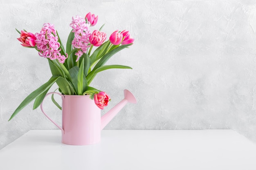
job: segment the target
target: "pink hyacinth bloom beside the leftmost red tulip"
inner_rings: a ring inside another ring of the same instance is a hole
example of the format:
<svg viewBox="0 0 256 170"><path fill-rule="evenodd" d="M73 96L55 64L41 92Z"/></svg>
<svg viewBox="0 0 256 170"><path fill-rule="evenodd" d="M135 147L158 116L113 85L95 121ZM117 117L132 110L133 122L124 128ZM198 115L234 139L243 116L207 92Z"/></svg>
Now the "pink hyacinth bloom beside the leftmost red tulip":
<svg viewBox="0 0 256 170"><path fill-rule="evenodd" d="M35 34L36 46L39 50L38 54L41 57L49 58L50 60L58 60L60 63L64 63L67 58L67 53L61 55L60 43L58 42L58 36L53 24L45 23L40 33Z"/></svg>

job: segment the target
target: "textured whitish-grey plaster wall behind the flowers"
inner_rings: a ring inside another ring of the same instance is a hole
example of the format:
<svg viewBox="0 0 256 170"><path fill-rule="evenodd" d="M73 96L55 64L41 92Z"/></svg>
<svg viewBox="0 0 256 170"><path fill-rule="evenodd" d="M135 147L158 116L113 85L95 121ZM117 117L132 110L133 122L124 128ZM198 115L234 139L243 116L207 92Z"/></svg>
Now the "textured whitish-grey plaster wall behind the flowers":
<svg viewBox="0 0 256 170"><path fill-rule="evenodd" d="M108 36L127 29L135 38L108 62L133 70L99 73L92 84L110 94L106 111L125 88L138 100L106 129L232 128L256 141L254 0L8 0L0 6L0 148L30 129L56 129L32 103L7 121L51 77L47 60L20 46L15 28L36 33L49 22L65 42L72 16L89 11L99 15L95 29L105 23ZM61 123L60 111L47 105Z"/></svg>

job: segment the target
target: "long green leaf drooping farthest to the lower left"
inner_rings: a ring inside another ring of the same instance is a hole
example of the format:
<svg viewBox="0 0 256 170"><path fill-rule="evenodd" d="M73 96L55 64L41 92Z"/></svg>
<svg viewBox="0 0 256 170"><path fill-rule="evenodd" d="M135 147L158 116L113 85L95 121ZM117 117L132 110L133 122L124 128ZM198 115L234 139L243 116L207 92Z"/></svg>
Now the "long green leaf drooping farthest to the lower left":
<svg viewBox="0 0 256 170"><path fill-rule="evenodd" d="M27 106L32 100L34 100L36 97L38 97L39 95L41 95L42 93L44 93L47 89L49 89L55 82L56 80L60 78L60 77L56 77L53 76L51 77L48 82L46 82L45 84L43 84L42 86L40 86L38 89L36 89L35 91L33 91L30 95L28 95L22 102L21 104L18 106L18 108L16 108L16 110L13 112L13 114L11 115L9 121L16 116L20 110L22 110L22 108L24 108L25 106Z"/></svg>

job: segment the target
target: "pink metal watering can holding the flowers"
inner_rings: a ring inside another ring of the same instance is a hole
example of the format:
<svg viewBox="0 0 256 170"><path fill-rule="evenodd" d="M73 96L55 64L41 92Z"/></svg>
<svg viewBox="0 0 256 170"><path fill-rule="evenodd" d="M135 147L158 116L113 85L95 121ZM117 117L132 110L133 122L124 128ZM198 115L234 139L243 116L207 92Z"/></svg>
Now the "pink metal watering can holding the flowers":
<svg viewBox="0 0 256 170"><path fill-rule="evenodd" d="M62 97L62 127L56 124L44 111L43 102L40 108L43 114L62 132L62 143L69 145L96 144L101 140L101 130L128 103L137 103L134 95L124 90L124 99L101 117L101 109L96 106L89 95L61 95Z"/></svg>

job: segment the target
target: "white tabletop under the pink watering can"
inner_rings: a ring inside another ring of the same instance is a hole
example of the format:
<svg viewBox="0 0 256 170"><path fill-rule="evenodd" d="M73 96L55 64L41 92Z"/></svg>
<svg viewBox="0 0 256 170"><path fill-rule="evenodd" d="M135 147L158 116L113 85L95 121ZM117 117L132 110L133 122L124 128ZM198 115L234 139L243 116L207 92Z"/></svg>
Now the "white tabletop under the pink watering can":
<svg viewBox="0 0 256 170"><path fill-rule="evenodd" d="M0 150L0 170L256 170L256 144L233 130L103 130L71 146L30 130Z"/></svg>

